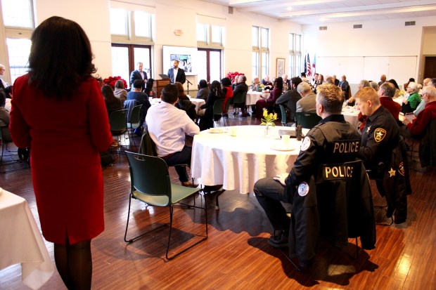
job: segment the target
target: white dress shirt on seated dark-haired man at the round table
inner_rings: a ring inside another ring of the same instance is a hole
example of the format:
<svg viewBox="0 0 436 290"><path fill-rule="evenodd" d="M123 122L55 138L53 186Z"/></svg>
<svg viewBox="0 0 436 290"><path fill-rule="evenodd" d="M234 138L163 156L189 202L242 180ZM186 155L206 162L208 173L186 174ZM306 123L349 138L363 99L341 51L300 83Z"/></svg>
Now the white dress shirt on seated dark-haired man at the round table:
<svg viewBox="0 0 436 290"><path fill-rule="evenodd" d="M185 134L194 136L200 133L200 128L184 110L164 101L148 109L146 124L159 157L180 152L185 145Z"/></svg>

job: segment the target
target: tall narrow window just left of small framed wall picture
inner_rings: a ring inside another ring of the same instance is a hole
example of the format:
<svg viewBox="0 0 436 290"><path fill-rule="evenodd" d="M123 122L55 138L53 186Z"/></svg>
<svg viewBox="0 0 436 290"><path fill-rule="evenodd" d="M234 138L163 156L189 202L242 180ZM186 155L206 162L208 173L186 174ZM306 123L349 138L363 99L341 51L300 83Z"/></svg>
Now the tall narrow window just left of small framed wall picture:
<svg viewBox="0 0 436 290"><path fill-rule="evenodd" d="M252 27L252 77L263 79L269 74L269 29Z"/></svg>

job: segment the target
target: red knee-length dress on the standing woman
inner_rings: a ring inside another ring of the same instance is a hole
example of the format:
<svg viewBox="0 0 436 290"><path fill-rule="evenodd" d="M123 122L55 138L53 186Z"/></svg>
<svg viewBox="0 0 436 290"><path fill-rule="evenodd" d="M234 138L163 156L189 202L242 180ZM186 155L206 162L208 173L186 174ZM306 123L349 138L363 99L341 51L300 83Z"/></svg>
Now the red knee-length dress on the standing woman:
<svg viewBox="0 0 436 290"><path fill-rule="evenodd" d="M71 100L46 98L28 77L14 83L9 128L15 145L32 150L42 233L56 244L96 237L104 229L99 152L112 143L103 95L89 78Z"/></svg>

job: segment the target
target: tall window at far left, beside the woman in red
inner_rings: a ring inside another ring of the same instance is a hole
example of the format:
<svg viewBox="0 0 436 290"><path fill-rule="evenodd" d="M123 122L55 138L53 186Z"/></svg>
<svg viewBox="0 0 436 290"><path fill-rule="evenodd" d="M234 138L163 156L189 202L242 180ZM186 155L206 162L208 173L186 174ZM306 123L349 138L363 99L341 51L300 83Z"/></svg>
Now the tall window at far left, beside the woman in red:
<svg viewBox="0 0 436 290"><path fill-rule="evenodd" d="M8 58L4 61L6 62L4 65L8 67L5 79L10 79L10 84L13 84L17 77L27 72L30 37L34 29L33 2L32 0L1 0L1 10L8 53ZM6 55L2 57L6 58Z"/></svg>

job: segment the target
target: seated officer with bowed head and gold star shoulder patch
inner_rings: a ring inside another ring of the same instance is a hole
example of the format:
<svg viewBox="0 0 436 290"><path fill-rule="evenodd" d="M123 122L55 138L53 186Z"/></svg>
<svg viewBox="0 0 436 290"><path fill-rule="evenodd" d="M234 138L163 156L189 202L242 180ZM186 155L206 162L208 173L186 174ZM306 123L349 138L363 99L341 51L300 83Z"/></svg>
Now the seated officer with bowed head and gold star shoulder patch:
<svg viewBox="0 0 436 290"><path fill-rule="evenodd" d="M371 177L380 176L392 150L399 142L397 121L380 104L378 94L373 88L361 88L355 98L361 114L368 116L361 135L359 158L364 161L365 168L371 170Z"/></svg>

